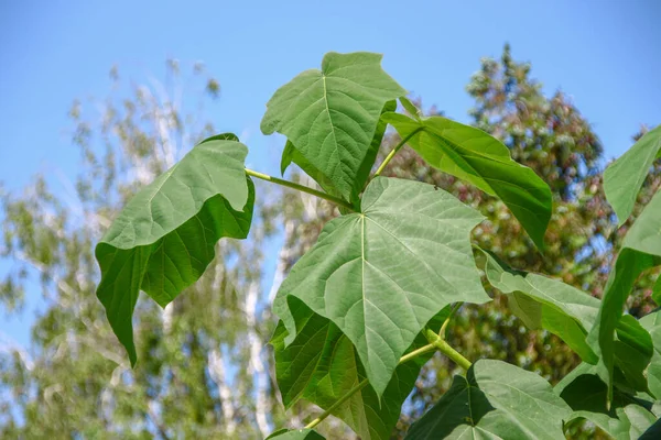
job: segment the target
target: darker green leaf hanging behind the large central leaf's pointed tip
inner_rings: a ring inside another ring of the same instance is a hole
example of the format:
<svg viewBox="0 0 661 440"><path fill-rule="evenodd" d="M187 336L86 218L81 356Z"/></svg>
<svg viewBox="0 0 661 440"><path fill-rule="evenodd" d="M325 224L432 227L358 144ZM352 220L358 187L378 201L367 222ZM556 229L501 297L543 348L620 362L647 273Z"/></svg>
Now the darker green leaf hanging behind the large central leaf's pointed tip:
<svg viewBox="0 0 661 440"><path fill-rule="evenodd" d="M296 308L296 339L285 348L286 330L281 321L271 340L282 402L290 408L300 398L305 398L328 409L366 378L365 370L354 344L337 326L314 314L300 300L291 298L290 301ZM440 328L448 314L449 308L444 308L430 326ZM419 334L408 351L426 344L426 338ZM430 352L400 364L381 399L367 385L342 406L335 407L332 414L344 420L364 440L390 439L401 406L411 393L422 365L432 354Z"/></svg>

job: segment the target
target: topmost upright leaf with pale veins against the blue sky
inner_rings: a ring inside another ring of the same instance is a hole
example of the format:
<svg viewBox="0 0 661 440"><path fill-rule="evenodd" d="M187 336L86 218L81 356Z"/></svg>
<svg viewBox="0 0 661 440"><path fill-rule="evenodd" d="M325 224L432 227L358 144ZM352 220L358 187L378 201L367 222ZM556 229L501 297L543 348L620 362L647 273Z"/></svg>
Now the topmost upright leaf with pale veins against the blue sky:
<svg viewBox="0 0 661 440"><path fill-rule="evenodd" d="M381 68L381 55L330 52L321 70L305 70L275 91L261 130L284 134L343 198L356 200L381 111L405 92Z"/></svg>

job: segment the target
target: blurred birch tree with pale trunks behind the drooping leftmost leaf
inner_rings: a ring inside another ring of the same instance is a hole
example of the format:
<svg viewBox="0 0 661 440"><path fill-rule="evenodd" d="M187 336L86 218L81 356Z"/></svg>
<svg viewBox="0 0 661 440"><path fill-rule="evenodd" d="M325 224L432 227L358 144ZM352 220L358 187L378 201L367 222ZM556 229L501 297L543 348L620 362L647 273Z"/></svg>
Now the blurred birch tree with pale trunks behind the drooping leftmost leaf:
<svg viewBox="0 0 661 440"><path fill-rule="evenodd" d="M40 176L0 200L0 251L12 263L1 299L20 309L39 279L45 301L31 348L0 346L0 438L262 438L282 416L261 311L261 251L277 211L259 205L250 239L223 240L203 279L165 309L139 300L131 370L95 295L94 246L137 188L215 133L201 114L220 89L203 65L182 75L175 61L163 84L124 87L117 69L111 79L108 99L71 110L76 182L56 191ZM185 81L197 89L184 94Z"/></svg>

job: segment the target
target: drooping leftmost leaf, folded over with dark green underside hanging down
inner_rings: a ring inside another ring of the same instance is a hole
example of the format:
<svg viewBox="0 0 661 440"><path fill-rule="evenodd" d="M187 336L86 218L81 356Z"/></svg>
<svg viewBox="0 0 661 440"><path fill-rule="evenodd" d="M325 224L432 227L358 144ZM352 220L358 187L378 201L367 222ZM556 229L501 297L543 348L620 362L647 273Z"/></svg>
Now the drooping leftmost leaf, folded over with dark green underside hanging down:
<svg viewBox="0 0 661 440"><path fill-rule="evenodd" d="M131 364L140 289L164 307L202 276L220 238L248 234L254 191L243 170L247 153L232 140L196 145L141 189L97 244L97 297Z"/></svg>

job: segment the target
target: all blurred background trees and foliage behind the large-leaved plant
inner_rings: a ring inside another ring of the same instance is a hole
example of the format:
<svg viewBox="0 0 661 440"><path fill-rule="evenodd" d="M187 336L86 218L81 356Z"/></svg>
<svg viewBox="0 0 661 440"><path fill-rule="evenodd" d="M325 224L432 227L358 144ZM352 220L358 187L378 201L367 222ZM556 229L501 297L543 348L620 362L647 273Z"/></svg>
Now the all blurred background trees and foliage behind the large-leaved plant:
<svg viewBox="0 0 661 440"><path fill-rule="evenodd" d="M272 299L271 284L278 286L314 244L322 226L337 215L327 202L290 191L260 198L274 202L257 206L249 240L221 241L217 261L193 292L164 310L139 301L137 370L129 367L94 295L98 268L91 250L109 219L138 187L214 133L203 111L188 111L175 97L182 78L196 80L197 89L186 94L201 102L218 95L218 82L202 66L182 76L171 64L170 72L178 78L171 88L133 87L130 95L118 91L100 102L74 105L74 143L84 167L68 194L52 193L44 177L22 194L2 194L1 251L14 263L2 279L2 301L9 311L20 308L22 293L36 282L47 301L33 328L33 353L3 348L2 437L234 438L240 432L259 438L273 426L301 426L317 411L296 404L283 414L271 356L262 349L274 328L264 307ZM121 90L118 74L112 76ZM544 257L501 201L431 168L412 150L402 150L383 175L448 190L488 218L474 230L477 244L514 267L556 276L600 296L611 264L608 250L621 241L631 220L614 233L616 220L600 182L603 146L589 122L565 94L544 96L531 66L514 62L507 46L501 59L481 61L467 91L475 101L473 124L502 140L513 158L533 168L556 197ZM397 134L384 140L389 145L398 141ZM295 179L313 184L293 173ZM639 201L649 201L658 186L655 168ZM633 218L639 212L640 204ZM264 282L262 252L278 226L284 246L274 279ZM632 315L651 310L654 279L655 274L640 279L629 304ZM552 383L578 364L556 337L525 329L506 310L507 299L489 293L495 301L462 307L448 330L448 342L462 346L466 358L503 360ZM398 436L448 389L454 370L441 355L425 365L404 405ZM328 438L349 436L339 422L325 424L319 431ZM590 428L583 433L589 435Z"/></svg>

